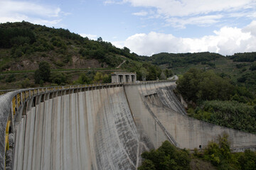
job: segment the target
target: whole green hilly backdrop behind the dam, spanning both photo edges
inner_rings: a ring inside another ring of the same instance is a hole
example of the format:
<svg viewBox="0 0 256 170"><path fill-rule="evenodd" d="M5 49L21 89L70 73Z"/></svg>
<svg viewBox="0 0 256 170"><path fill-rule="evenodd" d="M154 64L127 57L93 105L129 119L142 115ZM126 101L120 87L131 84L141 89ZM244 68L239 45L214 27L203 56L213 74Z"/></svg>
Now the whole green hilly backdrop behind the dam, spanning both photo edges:
<svg viewBox="0 0 256 170"><path fill-rule="evenodd" d="M114 47L102 38L82 38L63 28L48 28L25 21L0 24L0 89L38 86L34 72L42 61L48 62L55 74L50 82L41 86L78 83L82 74L90 78L87 82L92 82L96 72L107 75L116 71L137 72L138 80L166 79L191 68L213 69L235 83L255 86L255 74L252 73L255 60L256 52L226 57L211 52L162 52L145 57L131 53L127 47ZM55 81L54 77L63 77L65 81Z"/></svg>

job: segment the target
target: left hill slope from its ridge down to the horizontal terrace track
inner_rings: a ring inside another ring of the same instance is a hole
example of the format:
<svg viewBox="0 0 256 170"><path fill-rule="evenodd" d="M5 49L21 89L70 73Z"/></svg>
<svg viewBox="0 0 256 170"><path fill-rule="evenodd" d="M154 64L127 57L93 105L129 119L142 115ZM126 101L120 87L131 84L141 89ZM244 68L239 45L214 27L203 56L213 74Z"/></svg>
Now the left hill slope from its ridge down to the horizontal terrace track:
<svg viewBox="0 0 256 170"><path fill-rule="evenodd" d="M122 56L135 59L129 49L110 42L82 38L69 30L27 22L0 25L1 71L37 69L47 61L52 69L117 67Z"/></svg>

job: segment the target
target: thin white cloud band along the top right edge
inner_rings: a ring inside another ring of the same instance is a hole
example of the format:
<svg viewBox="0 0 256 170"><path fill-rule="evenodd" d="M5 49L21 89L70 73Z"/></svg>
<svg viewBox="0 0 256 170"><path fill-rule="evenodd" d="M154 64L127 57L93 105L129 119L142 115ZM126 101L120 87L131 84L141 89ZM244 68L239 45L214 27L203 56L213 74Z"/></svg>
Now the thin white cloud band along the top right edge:
<svg viewBox="0 0 256 170"><path fill-rule="evenodd" d="M157 8L166 16L189 16L215 11L236 11L252 8L255 0L123 0L133 6Z"/></svg>

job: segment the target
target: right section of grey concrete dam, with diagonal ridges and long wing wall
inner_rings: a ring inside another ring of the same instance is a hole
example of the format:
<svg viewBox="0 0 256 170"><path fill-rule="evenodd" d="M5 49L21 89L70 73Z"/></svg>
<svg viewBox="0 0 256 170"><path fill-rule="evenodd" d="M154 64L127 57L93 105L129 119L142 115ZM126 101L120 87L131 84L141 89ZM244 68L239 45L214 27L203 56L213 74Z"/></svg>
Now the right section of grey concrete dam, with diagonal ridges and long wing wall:
<svg viewBox="0 0 256 170"><path fill-rule="evenodd" d="M206 147L209 141L217 142L218 136L226 133L234 152L256 148L255 134L188 117L173 92L175 82L139 84L124 88L129 91L127 98L139 133L144 132L154 147L159 147L164 140L169 140L180 148L194 149L200 145ZM140 100L135 101L135 98Z"/></svg>

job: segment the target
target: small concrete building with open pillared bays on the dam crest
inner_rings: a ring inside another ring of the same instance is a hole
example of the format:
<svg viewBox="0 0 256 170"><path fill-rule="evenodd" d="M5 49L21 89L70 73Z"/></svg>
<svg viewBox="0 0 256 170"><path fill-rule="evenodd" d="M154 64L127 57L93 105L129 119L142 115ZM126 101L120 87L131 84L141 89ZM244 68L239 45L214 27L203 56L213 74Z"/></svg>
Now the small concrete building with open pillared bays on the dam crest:
<svg viewBox="0 0 256 170"><path fill-rule="evenodd" d="M112 83L135 83L137 76L132 72L114 72L111 74L111 79Z"/></svg>

